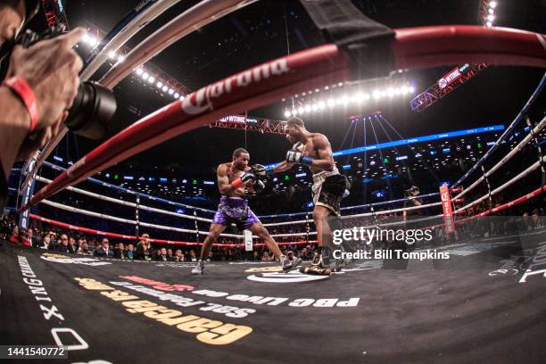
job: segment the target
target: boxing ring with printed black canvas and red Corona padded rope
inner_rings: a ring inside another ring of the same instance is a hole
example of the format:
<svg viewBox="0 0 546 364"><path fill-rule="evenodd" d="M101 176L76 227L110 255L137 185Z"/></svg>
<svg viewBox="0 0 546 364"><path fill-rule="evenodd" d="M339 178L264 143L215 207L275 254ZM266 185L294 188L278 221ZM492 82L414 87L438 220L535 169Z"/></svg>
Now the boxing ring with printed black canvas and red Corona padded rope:
<svg viewBox="0 0 546 364"><path fill-rule="evenodd" d="M393 70L457 62L546 68L546 42L541 34L473 26L396 29L395 33L391 44ZM135 59L142 61L136 55ZM91 176L226 114L349 80L350 64L336 45L320 45L203 87L138 120L68 170L45 162L45 168L60 174L53 180L37 176L37 182L44 186L21 211L41 203L71 214L145 227L146 232L191 235L194 241L150 240L197 247L206 236L205 227L215 211L149 194L138 193L134 202L122 200L116 194L136 196L136 192ZM119 82L128 71L114 69L116 76L105 79ZM490 170L482 170L482 176L469 185L463 183L492 157L523 120L545 79L546 75L495 146L453 186L466 187L451 188L452 200L465 203L455 208L454 223L467 235L452 243L416 246L417 253L434 249L449 254L450 259L393 261L376 257L354 261L332 277L297 271L280 273L275 262L213 261L206 275L194 277L189 274L194 263L97 259L5 243L0 247L0 262L7 272L0 278L2 342L63 344L70 348L70 362L95 364L127 362L129 358L158 363L181 358L185 362L263 363L542 362L546 355L546 224L539 221L534 229L509 227L505 234L482 236L473 232L479 225L469 224L479 224L493 213L508 211L546 191L543 184L529 186L529 192L511 201L472 212L477 205L491 202L492 196L521 184L536 170L543 170L546 157L538 149L537 160L524 166L521 173L501 186L492 186L495 172L537 144L546 118L532 125L529 134ZM101 185L113 194L75 187L84 181ZM487 193L474 198L471 193L476 194L478 186L485 186ZM135 211L135 215L145 211L170 216L194 227L127 219L51 200L64 190L103 204L123 206L131 213ZM402 211L420 209L439 211L443 204L439 193L421 197L430 201L390 210L380 208L408 199L346 206L342 208L343 223L396 227L404 222L382 217L400 217ZM472 200L467 202L470 197ZM161 204L185 208L193 214L170 211L168 207L159 207ZM30 214L30 218L91 235L136 239L134 235L76 226L37 214ZM269 228L304 226L299 233L272 234L277 239L288 239L279 245L312 244L316 240L309 211L260 218ZM445 218L444 213L439 213L419 223L421 227L434 228L435 236L447 236L443 231ZM243 238L239 234L222 236L234 241ZM253 245L263 244L254 236Z"/></svg>

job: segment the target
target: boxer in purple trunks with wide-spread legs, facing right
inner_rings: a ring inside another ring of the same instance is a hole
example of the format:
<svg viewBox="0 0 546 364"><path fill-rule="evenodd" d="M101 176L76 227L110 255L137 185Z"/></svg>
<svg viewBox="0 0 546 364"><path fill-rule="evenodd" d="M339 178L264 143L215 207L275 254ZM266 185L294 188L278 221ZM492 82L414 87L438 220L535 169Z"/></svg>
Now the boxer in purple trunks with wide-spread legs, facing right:
<svg viewBox="0 0 546 364"><path fill-rule="evenodd" d="M260 219L252 212L246 200L246 194L260 192L263 183L256 179L248 166L250 156L243 148L237 148L233 153L233 160L222 163L216 170L219 193L222 195L218 205L218 211L212 220L209 236L203 242L201 258L192 269L192 274L203 274L204 261L207 259L211 246L218 240L219 235L231 223L235 223L239 229L247 228L252 235L258 236L277 258L283 270L293 267L284 254L281 253L277 243L269 235L268 230L261 225Z"/></svg>

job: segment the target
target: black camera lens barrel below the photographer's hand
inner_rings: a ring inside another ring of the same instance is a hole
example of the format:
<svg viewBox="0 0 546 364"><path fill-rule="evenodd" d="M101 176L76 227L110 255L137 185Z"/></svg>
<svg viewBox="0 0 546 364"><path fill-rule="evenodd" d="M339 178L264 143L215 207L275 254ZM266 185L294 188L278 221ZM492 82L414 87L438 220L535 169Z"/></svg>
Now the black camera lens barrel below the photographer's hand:
<svg viewBox="0 0 546 364"><path fill-rule="evenodd" d="M95 82L82 82L64 124L79 136L103 139L116 112L112 91Z"/></svg>

